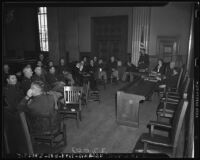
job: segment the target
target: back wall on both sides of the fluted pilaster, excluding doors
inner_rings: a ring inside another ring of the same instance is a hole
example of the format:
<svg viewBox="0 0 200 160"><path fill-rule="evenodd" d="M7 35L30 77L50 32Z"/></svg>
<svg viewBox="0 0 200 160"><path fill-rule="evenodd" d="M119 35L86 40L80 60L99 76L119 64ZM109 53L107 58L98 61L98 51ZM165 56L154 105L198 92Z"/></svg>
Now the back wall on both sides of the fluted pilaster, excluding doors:
<svg viewBox="0 0 200 160"><path fill-rule="evenodd" d="M99 16L128 15L127 51L131 53L132 7L50 7L48 14L48 23L52 24L49 26L50 43L55 44L50 47L50 54L58 52L56 59L69 52L70 61L78 60L80 52L91 52L90 20ZM167 35L179 36L180 54L187 55L190 14L188 3L170 2L164 7L151 7L149 54L156 55L157 36Z"/></svg>

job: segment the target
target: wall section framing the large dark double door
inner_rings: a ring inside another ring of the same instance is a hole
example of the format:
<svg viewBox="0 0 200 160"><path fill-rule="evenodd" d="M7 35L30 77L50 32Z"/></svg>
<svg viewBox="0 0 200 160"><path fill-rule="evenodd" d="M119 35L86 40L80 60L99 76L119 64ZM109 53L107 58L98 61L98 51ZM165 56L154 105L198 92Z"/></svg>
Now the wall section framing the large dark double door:
<svg viewBox="0 0 200 160"><path fill-rule="evenodd" d="M80 7L79 8L79 44L80 51L91 51L91 17L128 15L128 46L131 53L131 7Z"/></svg>

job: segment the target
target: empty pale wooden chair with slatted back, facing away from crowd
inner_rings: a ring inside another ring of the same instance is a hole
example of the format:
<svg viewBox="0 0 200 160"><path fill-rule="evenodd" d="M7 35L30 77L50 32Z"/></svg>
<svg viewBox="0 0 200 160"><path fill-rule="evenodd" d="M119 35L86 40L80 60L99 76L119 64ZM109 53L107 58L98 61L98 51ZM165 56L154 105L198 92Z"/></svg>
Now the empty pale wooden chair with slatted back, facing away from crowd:
<svg viewBox="0 0 200 160"><path fill-rule="evenodd" d="M62 115L63 119L76 119L77 127L79 127L79 121L81 121L82 92L82 87L64 86L64 104L60 103L59 107L59 113Z"/></svg>

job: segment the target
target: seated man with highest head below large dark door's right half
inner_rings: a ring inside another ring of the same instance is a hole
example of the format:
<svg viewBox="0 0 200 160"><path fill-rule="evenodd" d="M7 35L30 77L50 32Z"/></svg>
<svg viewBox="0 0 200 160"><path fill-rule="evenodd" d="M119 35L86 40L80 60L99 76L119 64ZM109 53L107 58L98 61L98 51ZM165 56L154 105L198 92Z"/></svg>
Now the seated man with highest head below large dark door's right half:
<svg viewBox="0 0 200 160"><path fill-rule="evenodd" d="M116 78L117 81L119 80L119 72L117 70L117 61L115 61L115 57L110 57L109 69L111 72L111 79Z"/></svg>

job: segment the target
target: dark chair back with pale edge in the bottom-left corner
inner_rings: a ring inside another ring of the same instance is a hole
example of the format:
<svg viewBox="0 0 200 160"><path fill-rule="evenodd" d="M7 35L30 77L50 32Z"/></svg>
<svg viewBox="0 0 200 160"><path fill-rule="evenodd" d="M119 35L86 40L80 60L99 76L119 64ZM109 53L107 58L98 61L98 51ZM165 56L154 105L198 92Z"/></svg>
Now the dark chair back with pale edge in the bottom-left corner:
<svg viewBox="0 0 200 160"><path fill-rule="evenodd" d="M24 112L4 109L4 143L7 154L33 154L33 145Z"/></svg>

